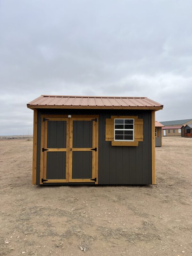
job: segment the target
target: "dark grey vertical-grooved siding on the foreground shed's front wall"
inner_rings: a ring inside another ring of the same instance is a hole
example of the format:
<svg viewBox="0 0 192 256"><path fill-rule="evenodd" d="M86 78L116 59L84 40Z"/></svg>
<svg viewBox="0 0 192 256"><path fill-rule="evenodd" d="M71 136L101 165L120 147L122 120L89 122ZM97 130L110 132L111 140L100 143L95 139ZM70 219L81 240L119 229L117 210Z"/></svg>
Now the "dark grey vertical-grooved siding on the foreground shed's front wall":
<svg viewBox="0 0 192 256"><path fill-rule="evenodd" d="M144 185L152 184L151 111L113 109L38 109L37 122L37 175L40 180L41 115L99 115L98 184ZM139 146L111 146L105 140L105 119L111 116L138 116L143 119L143 141ZM44 183L51 185L52 183ZM94 183L58 183L89 184Z"/></svg>

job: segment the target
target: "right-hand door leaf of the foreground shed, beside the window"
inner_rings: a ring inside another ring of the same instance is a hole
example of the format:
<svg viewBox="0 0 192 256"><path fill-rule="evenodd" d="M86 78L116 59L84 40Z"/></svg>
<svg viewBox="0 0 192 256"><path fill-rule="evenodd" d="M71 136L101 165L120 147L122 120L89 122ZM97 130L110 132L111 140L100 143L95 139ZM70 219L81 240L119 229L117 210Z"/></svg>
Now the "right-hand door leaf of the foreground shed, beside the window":
<svg viewBox="0 0 192 256"><path fill-rule="evenodd" d="M93 117L70 118L69 182L97 181L96 122Z"/></svg>

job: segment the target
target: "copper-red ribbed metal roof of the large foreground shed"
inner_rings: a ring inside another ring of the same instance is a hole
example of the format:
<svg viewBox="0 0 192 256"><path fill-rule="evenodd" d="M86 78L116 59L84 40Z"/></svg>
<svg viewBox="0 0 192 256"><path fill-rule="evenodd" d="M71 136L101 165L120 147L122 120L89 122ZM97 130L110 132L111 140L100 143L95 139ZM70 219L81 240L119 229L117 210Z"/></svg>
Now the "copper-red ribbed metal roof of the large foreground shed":
<svg viewBox="0 0 192 256"><path fill-rule="evenodd" d="M40 107L86 107L86 108L154 108L162 109L163 105L147 97L108 97L108 96L66 96L41 95L27 104L28 108Z"/></svg>

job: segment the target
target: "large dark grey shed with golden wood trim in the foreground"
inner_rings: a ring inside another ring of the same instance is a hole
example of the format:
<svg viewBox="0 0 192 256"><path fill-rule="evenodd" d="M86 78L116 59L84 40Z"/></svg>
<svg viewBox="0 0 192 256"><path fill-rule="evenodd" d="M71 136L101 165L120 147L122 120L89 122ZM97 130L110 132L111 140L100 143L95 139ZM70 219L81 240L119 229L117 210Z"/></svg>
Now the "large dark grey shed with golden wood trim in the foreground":
<svg viewBox="0 0 192 256"><path fill-rule="evenodd" d="M33 184L155 184L155 111L146 97L42 95L34 110Z"/></svg>

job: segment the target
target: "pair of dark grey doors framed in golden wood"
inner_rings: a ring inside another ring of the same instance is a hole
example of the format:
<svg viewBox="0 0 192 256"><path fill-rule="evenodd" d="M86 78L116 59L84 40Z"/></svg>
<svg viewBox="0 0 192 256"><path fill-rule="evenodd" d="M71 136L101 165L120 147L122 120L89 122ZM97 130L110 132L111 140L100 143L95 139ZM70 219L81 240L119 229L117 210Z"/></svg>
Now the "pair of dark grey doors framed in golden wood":
<svg viewBox="0 0 192 256"><path fill-rule="evenodd" d="M98 116L41 118L40 184L98 184Z"/></svg>

